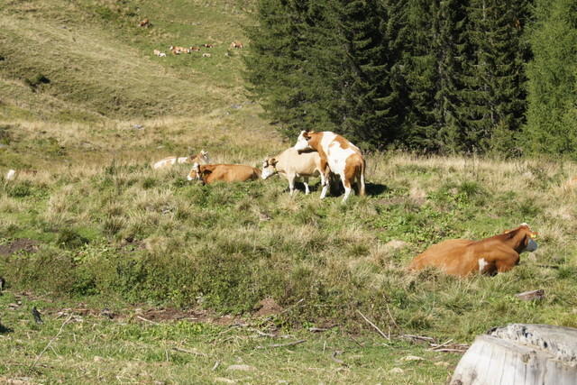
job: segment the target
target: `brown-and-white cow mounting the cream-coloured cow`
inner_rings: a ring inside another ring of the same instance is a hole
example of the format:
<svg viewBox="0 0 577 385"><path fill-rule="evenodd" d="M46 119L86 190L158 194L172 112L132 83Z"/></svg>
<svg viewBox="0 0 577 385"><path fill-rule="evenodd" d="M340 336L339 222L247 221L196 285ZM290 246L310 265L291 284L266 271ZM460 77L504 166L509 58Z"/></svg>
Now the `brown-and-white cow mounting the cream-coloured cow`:
<svg viewBox="0 0 577 385"><path fill-rule="evenodd" d="M355 187L355 192L361 196L364 191L364 170L366 163L362 157L361 150L352 142L347 141L343 136L330 131L316 133L314 131L303 131L298 135L297 143L294 146L297 151L313 150L317 151L321 157L325 181L321 199L326 196L328 190L328 172L341 177L344 187L343 202L351 194L351 189ZM328 169L327 166L328 165Z"/></svg>

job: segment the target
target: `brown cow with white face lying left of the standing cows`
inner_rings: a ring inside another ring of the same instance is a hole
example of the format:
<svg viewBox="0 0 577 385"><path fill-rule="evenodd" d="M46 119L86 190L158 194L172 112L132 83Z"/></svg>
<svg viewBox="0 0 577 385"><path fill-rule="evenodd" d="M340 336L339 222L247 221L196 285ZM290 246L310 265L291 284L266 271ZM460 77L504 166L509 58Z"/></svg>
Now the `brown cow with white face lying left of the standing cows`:
<svg viewBox="0 0 577 385"><path fill-rule="evenodd" d="M205 164L195 163L188 173L188 180L201 180L209 185L216 181L244 182L261 178L261 170L243 164Z"/></svg>

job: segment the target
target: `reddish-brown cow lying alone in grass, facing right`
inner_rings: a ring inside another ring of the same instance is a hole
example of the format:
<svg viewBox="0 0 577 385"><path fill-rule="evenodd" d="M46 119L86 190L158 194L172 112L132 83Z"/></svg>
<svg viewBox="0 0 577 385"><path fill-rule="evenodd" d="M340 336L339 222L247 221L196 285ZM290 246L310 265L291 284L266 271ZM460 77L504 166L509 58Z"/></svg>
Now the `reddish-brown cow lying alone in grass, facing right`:
<svg viewBox="0 0 577 385"><path fill-rule="evenodd" d="M435 266L446 274L465 277L479 271L480 274L495 275L513 269L519 262L521 252L535 252L536 233L527 224L503 234L470 241L450 239L434 244L417 255L409 269L421 270Z"/></svg>

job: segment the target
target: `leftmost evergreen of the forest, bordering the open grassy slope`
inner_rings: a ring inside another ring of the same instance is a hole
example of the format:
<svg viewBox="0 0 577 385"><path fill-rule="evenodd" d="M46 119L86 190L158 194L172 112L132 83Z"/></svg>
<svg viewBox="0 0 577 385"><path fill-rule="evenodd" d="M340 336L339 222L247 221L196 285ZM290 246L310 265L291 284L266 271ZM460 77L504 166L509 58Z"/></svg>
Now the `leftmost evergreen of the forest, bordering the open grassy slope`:
<svg viewBox="0 0 577 385"><path fill-rule="evenodd" d="M284 133L312 129L307 116L306 65L310 57L311 25L317 23L307 1L261 0L258 25L246 28L251 54L245 58L245 78L252 96L259 100L265 116Z"/></svg>

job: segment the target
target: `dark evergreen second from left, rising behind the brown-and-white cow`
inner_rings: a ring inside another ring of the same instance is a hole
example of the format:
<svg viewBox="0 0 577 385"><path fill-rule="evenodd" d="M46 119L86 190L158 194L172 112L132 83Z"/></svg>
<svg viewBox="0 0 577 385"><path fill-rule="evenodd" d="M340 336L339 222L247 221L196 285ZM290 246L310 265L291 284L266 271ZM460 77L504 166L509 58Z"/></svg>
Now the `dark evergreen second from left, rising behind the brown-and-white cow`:
<svg viewBox="0 0 577 385"><path fill-rule="evenodd" d="M332 23L325 32L335 44L325 56L323 78L335 93L326 110L339 132L365 147L384 147L398 134L402 3L386 3L389 12L376 0L334 0L330 7Z"/></svg>

